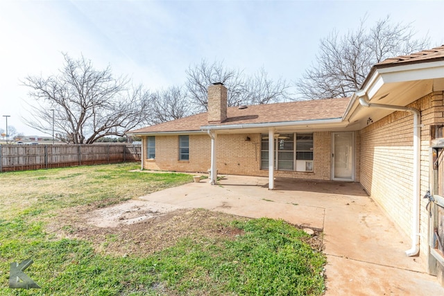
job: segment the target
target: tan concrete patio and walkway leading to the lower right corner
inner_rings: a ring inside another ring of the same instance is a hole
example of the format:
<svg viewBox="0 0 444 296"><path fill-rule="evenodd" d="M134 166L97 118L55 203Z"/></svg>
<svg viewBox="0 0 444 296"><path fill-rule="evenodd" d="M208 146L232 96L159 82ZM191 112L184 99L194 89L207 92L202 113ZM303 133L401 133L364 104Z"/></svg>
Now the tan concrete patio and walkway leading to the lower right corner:
<svg viewBox="0 0 444 296"><path fill-rule="evenodd" d="M205 208L251 218L282 218L324 230L325 295L444 295L421 257L408 257L398 231L357 183L226 176L146 195L141 200Z"/></svg>

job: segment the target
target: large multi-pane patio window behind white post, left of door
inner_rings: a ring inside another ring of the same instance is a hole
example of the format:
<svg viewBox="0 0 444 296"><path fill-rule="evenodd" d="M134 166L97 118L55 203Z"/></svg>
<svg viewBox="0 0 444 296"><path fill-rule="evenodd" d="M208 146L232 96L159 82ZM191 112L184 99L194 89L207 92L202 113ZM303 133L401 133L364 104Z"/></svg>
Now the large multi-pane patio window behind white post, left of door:
<svg viewBox="0 0 444 296"><path fill-rule="evenodd" d="M313 171L313 134L279 134L275 136L275 169L279 171ZM261 168L268 168L268 134L261 137ZM301 167L303 166L303 168Z"/></svg>

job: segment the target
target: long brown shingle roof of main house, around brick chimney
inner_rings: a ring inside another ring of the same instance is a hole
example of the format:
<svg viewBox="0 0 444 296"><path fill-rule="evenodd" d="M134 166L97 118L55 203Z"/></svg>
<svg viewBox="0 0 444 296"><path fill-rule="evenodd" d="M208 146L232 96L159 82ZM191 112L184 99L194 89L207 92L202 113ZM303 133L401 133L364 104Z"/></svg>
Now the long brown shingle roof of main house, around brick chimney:
<svg viewBox="0 0 444 296"><path fill-rule="evenodd" d="M307 121L337 119L343 116L350 98L330 98L315 101L297 101L267 105L250 105L246 109L229 107L228 118L217 125L248 125L254 123L278 123L284 121ZM166 123L147 126L131 133L198 131L208 124L207 112L188 116Z"/></svg>

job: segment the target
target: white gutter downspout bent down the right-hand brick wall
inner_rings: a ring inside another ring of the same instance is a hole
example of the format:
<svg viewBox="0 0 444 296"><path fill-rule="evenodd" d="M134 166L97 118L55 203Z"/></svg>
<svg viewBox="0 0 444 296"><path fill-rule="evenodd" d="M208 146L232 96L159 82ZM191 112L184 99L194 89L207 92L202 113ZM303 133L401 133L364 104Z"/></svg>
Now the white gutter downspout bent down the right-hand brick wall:
<svg viewBox="0 0 444 296"><path fill-rule="evenodd" d="M421 112L413 107L402 107L395 105L383 105L370 103L368 96L364 91L356 93L359 97L359 103L364 107L375 107L380 109L389 109L397 111L411 112L413 114L413 216L411 225L411 249L405 251L407 256L415 256L419 252L419 218L420 218L420 153L421 153Z"/></svg>

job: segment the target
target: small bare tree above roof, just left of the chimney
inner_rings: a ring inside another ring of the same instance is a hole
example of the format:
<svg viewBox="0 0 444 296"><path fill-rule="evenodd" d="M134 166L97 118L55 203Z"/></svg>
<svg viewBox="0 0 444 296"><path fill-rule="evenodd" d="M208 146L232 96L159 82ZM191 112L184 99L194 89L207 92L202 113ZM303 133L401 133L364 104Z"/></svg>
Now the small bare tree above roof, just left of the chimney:
<svg viewBox="0 0 444 296"><path fill-rule="evenodd" d="M180 87L169 87L151 94L151 124L172 121L191 115L187 92Z"/></svg>

